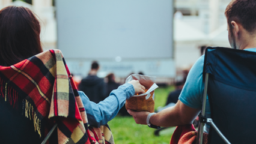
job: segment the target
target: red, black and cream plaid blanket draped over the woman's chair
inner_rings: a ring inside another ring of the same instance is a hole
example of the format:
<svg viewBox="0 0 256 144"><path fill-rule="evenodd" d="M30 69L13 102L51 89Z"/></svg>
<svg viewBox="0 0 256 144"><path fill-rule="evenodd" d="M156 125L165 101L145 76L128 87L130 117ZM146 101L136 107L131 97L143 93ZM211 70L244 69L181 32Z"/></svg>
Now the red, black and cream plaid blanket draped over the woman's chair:
<svg viewBox="0 0 256 144"><path fill-rule="evenodd" d="M91 136L84 106L60 50L0 66L0 82L4 100L14 109L19 109L22 100L22 113L34 121L40 137L57 122L58 143L114 143L109 127L108 139L103 140L100 128L92 128L98 132Z"/></svg>

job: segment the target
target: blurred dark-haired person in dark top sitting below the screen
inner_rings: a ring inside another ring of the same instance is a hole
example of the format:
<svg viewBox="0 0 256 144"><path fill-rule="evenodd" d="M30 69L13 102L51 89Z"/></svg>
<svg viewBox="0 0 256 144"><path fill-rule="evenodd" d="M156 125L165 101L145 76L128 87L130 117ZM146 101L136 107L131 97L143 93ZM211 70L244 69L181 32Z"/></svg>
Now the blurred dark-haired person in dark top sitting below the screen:
<svg viewBox="0 0 256 144"><path fill-rule="evenodd" d="M79 91L83 91L94 103L99 103L108 95L104 79L97 77L99 68L99 63L93 61L88 76L82 79L78 86Z"/></svg>

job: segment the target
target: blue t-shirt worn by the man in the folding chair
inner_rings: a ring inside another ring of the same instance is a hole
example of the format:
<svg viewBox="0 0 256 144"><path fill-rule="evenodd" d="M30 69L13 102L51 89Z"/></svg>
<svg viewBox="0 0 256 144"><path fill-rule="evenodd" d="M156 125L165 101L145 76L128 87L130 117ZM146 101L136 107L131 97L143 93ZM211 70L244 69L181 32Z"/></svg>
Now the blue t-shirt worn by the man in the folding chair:
<svg viewBox="0 0 256 144"><path fill-rule="evenodd" d="M256 52L256 48L245 49L251 52ZM202 109L203 104L203 68L204 68L204 55L201 56L193 65L189 74L187 75L186 83L181 91L178 99L186 104L186 106L194 109ZM208 96L206 98L206 117L210 118L210 104ZM209 132L210 125L206 124L205 131Z"/></svg>

